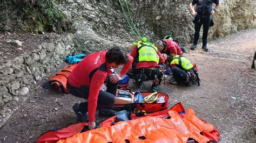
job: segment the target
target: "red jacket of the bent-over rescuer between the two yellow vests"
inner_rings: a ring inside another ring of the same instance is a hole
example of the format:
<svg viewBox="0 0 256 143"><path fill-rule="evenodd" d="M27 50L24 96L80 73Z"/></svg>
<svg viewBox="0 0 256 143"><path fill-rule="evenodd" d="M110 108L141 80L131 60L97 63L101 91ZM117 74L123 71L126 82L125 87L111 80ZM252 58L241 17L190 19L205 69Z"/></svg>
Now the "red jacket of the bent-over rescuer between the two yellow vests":
<svg viewBox="0 0 256 143"><path fill-rule="evenodd" d="M183 52L181 51L179 45L177 42L174 42L172 40L164 39L162 41L165 41L167 46L161 53L165 53L167 55L174 54L174 55L182 55Z"/></svg>

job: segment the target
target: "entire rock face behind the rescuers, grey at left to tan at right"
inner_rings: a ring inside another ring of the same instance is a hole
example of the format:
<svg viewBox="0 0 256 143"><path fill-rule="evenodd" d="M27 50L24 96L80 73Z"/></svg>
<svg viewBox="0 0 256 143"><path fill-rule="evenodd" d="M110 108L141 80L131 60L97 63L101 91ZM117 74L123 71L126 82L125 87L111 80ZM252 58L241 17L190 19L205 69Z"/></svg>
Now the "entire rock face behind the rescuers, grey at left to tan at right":
<svg viewBox="0 0 256 143"><path fill-rule="evenodd" d="M215 25L210 30L210 39L255 27L253 0L220 2L219 12L213 17ZM125 1L122 3L126 8ZM153 42L171 34L185 45L192 42L194 34L189 4L190 0L133 0L127 3L140 35ZM127 24L118 1L69 0L60 4L59 8L75 21L73 26L77 30L75 39L79 51L91 53L113 45L131 49L131 42L138 40Z"/></svg>

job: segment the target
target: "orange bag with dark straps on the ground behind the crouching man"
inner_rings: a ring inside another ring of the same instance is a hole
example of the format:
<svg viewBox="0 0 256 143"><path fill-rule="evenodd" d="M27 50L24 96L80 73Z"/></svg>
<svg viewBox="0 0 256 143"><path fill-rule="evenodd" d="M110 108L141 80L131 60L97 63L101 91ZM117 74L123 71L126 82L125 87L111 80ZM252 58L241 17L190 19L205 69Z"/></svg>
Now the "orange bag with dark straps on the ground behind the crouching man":
<svg viewBox="0 0 256 143"><path fill-rule="evenodd" d="M43 84L44 89L58 90L59 92L68 93L66 89L66 83L76 65L70 65L59 71L55 76L50 77L48 81Z"/></svg>

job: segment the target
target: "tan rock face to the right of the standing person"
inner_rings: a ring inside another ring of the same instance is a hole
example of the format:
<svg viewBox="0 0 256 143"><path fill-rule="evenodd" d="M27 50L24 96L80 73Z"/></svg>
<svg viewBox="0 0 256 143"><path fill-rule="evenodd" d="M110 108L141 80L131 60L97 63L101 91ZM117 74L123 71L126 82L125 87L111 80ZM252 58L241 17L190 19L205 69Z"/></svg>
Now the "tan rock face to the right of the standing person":
<svg viewBox="0 0 256 143"><path fill-rule="evenodd" d="M223 0L215 15L215 25L210 30L210 38L219 38L247 28L255 28L254 0Z"/></svg>

